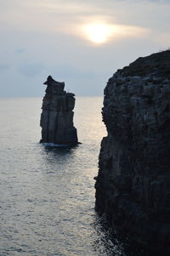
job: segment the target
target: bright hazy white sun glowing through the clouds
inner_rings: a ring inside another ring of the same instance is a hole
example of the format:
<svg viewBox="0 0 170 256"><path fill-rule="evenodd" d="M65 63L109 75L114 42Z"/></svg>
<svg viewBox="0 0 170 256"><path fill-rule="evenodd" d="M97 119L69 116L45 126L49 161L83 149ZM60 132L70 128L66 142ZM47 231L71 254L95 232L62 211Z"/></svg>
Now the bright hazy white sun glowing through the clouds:
<svg viewBox="0 0 170 256"><path fill-rule="evenodd" d="M113 33L113 28L109 24L95 22L85 25L84 31L88 40L93 43L106 43Z"/></svg>

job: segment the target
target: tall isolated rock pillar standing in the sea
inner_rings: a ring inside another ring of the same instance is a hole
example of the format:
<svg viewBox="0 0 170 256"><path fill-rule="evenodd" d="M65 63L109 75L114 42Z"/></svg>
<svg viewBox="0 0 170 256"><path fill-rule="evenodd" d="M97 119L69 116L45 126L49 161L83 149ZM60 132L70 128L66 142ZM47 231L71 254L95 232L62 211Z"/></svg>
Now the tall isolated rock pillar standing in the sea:
<svg viewBox="0 0 170 256"><path fill-rule="evenodd" d="M73 125L75 94L66 93L65 82L56 82L53 77L43 84L47 85L42 100L41 143L54 145L77 145L77 129Z"/></svg>

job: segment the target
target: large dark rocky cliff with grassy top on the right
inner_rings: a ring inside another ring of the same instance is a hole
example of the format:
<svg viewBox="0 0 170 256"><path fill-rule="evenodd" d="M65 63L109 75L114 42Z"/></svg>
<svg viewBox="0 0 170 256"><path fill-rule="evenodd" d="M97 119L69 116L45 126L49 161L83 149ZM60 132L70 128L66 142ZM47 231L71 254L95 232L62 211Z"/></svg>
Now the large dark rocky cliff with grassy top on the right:
<svg viewBox="0 0 170 256"><path fill-rule="evenodd" d="M116 71L102 113L96 210L121 234L170 252L170 51Z"/></svg>

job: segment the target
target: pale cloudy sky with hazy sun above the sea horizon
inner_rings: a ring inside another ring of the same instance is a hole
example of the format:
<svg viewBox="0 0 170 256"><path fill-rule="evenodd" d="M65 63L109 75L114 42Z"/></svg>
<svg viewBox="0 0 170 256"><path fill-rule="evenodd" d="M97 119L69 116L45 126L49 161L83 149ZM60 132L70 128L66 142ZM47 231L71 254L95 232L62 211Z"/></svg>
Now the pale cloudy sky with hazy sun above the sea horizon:
<svg viewBox="0 0 170 256"><path fill-rule="evenodd" d="M170 47L170 0L0 0L0 97L42 97L48 75L103 95L113 73Z"/></svg>

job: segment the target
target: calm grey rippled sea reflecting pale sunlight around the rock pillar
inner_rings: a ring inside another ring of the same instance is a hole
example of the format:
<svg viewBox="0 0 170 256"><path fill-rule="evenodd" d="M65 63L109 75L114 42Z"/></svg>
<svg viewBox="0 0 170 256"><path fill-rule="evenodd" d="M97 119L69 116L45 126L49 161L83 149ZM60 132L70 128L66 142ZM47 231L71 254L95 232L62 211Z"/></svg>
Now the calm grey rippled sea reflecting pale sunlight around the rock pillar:
<svg viewBox="0 0 170 256"><path fill-rule="evenodd" d="M77 97L82 145L39 144L42 99L0 99L0 256L122 255L94 212L102 98Z"/></svg>

